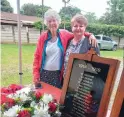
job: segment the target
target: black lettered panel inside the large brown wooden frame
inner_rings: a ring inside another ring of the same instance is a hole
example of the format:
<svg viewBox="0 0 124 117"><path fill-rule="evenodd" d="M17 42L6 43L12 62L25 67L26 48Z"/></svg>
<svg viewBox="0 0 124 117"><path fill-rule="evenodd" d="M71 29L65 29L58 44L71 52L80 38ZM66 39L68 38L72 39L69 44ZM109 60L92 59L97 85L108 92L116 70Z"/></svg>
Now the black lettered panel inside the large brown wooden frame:
<svg viewBox="0 0 124 117"><path fill-rule="evenodd" d="M96 117L108 70L108 64L74 59L64 113L71 117Z"/></svg>

